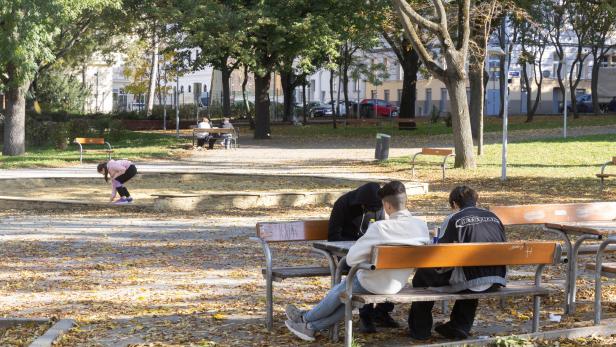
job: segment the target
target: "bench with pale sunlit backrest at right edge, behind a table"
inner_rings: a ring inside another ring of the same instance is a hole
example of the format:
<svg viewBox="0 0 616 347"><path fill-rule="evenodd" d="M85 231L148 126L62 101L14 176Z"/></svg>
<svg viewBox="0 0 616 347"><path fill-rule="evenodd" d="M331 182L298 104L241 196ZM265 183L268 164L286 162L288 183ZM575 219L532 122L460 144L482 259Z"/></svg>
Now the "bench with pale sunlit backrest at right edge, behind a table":
<svg viewBox="0 0 616 347"><path fill-rule="evenodd" d="M589 202L571 204L532 204L512 206L490 206L490 211L498 216L505 225L543 225L557 222L587 222L612 221L616 219L616 202ZM578 255L594 255L599 250L599 244L583 245L588 237L578 237L572 245L569 236L560 230L543 227L545 231L558 234L565 242L563 256L567 260L567 285L565 297L567 298L565 311L573 312L575 298L570 298L576 292L576 282L570 279L577 278ZM616 252L616 245L609 245L606 253Z"/></svg>

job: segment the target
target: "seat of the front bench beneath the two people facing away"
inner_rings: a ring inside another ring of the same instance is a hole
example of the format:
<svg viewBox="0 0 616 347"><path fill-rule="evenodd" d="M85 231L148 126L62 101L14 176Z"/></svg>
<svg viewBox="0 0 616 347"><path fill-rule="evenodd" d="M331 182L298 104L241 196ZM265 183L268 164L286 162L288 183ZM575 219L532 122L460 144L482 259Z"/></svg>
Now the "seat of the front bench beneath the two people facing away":
<svg viewBox="0 0 616 347"><path fill-rule="evenodd" d="M442 293L428 288L404 288L394 295L376 294L353 294L353 301L362 304L378 304L391 302L396 304L408 304L418 301L441 301L459 299L483 299L488 297L541 295L546 296L555 290L538 287L534 284L510 283L507 287L492 292L483 293ZM342 295L345 297L345 294Z"/></svg>

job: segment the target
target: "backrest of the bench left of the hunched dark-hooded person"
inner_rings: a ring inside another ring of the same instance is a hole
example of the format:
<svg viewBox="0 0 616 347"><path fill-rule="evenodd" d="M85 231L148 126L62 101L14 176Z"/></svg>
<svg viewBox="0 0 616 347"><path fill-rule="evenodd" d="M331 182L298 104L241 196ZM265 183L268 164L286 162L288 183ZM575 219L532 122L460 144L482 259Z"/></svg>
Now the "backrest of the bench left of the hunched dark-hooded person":
<svg viewBox="0 0 616 347"><path fill-rule="evenodd" d="M329 220L257 223L257 237L267 242L327 240Z"/></svg>

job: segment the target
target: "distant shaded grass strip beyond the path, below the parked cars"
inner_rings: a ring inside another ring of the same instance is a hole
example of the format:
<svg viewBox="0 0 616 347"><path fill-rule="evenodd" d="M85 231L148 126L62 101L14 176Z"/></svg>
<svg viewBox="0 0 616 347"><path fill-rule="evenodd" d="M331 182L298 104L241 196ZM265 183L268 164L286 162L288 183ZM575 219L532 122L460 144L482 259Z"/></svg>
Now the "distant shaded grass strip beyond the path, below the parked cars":
<svg viewBox="0 0 616 347"><path fill-rule="evenodd" d="M509 118L509 130L532 130L532 129L553 129L560 128L563 125L562 116L537 116L532 123L526 123L526 116L511 116ZM356 137L356 136L374 136L377 132L386 132L392 136L430 136L450 134L451 128L445 126L443 121L438 123L430 123L430 119L423 117L417 118L417 130L398 130L398 124L383 120L380 126L376 125L350 125L344 126L338 124L338 128L334 129L331 123L327 124L309 124L301 127L292 126L274 126L272 127L273 137ZM585 126L605 126L616 125L616 115L586 115L580 116L579 119L569 117L568 127L585 127ZM485 118L485 132L500 132L502 130L502 120L498 117Z"/></svg>

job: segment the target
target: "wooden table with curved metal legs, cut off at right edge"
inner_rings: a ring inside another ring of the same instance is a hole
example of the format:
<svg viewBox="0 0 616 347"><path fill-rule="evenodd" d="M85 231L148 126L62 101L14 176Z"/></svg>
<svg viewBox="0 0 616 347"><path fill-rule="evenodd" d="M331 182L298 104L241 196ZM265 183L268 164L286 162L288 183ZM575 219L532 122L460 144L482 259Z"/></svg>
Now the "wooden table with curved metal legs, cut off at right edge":
<svg viewBox="0 0 616 347"><path fill-rule="evenodd" d="M546 223L545 227L558 230L567 236L578 235L571 254L567 254L570 262L567 280L569 281L569 305L570 312L575 312L577 258L578 250L586 240L600 240L595 262L595 324L601 320L601 270L603 255L610 244L616 244L616 221L587 221L587 222L557 222Z"/></svg>

